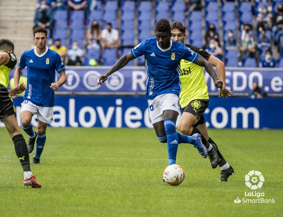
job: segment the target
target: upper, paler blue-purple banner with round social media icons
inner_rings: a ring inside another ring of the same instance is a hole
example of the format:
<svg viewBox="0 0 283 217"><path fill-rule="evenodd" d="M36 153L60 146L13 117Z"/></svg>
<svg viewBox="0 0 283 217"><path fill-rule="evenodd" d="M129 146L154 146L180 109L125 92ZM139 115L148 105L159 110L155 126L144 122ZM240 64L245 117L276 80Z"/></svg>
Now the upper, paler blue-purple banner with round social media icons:
<svg viewBox="0 0 283 217"><path fill-rule="evenodd" d="M109 67L67 67L67 82L58 92L92 93L143 93L146 91L144 67L124 67L109 77L103 86L97 86L97 79ZM26 69L22 71L26 76ZM10 78L14 76L11 71ZM189 76L189 75L187 75ZM218 93L211 77L205 73L209 93ZM235 93L251 93L252 82L258 82L266 93L283 93L283 69L226 68L226 87Z"/></svg>

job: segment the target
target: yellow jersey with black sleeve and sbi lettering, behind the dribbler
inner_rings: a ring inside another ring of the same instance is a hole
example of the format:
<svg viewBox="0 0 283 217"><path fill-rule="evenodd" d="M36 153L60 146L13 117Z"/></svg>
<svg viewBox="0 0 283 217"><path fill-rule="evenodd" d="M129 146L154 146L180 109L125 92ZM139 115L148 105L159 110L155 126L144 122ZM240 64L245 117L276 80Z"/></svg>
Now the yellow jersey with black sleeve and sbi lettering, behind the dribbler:
<svg viewBox="0 0 283 217"><path fill-rule="evenodd" d="M206 60L210 57L210 54L201 48L193 45L185 45L203 56ZM180 66L180 81L182 86L180 93L181 108L185 108L194 99L209 99L208 88L203 74L203 67L187 60L181 60Z"/></svg>

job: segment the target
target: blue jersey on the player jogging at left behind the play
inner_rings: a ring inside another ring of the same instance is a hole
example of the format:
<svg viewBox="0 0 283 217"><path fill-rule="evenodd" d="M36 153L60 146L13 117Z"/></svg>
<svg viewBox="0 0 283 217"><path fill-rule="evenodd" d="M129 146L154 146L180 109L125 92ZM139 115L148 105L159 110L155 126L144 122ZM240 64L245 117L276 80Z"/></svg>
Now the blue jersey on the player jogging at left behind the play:
<svg viewBox="0 0 283 217"><path fill-rule="evenodd" d="M19 69L27 66L27 87L24 100L29 100L37 106L53 107L54 90L50 86L55 82L55 70L58 73L65 70L60 55L48 48L42 55L36 53L36 48L26 50L18 66Z"/></svg>

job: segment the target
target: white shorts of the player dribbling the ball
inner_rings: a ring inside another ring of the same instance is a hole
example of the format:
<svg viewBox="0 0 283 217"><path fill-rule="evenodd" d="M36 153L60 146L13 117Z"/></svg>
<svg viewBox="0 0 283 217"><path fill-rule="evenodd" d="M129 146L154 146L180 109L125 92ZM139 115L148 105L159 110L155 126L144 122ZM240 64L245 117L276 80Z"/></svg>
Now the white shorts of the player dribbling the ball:
<svg viewBox="0 0 283 217"><path fill-rule="evenodd" d="M149 118L152 124L163 120L163 111L174 110L180 114L179 97L173 93L164 93L147 100Z"/></svg>

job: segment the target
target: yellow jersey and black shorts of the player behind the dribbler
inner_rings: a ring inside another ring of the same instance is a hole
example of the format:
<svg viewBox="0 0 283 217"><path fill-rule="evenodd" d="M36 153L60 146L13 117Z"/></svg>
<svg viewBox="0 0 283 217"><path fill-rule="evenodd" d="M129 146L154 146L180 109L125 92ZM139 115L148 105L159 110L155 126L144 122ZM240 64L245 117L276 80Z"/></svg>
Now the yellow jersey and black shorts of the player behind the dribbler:
<svg viewBox="0 0 283 217"><path fill-rule="evenodd" d="M187 45L188 48L203 56L206 60L210 54L205 50L193 45ZM197 116L198 122L194 126L204 124L203 113L208 107L208 88L205 82L203 67L198 66L187 60L181 60L180 81L182 90L180 93L180 105L184 112L189 112Z"/></svg>

